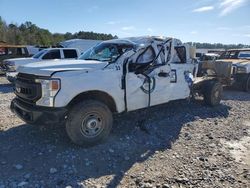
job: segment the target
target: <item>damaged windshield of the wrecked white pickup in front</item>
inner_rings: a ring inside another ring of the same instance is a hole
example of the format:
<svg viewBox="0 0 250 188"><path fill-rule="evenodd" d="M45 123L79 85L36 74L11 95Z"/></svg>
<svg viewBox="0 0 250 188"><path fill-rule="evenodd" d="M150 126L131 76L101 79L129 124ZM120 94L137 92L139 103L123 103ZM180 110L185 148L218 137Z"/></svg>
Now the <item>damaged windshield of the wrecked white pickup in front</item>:
<svg viewBox="0 0 250 188"><path fill-rule="evenodd" d="M132 44L103 42L87 50L79 59L114 62L131 49L133 49Z"/></svg>

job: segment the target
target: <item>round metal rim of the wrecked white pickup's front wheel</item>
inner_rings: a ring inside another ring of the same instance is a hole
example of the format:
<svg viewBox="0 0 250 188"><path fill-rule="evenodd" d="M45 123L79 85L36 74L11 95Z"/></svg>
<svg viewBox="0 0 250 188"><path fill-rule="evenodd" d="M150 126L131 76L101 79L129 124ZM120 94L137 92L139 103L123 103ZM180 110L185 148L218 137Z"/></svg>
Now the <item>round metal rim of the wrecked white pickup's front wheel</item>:
<svg viewBox="0 0 250 188"><path fill-rule="evenodd" d="M89 113L82 119L81 133L88 138L98 136L103 130L102 118L97 113Z"/></svg>

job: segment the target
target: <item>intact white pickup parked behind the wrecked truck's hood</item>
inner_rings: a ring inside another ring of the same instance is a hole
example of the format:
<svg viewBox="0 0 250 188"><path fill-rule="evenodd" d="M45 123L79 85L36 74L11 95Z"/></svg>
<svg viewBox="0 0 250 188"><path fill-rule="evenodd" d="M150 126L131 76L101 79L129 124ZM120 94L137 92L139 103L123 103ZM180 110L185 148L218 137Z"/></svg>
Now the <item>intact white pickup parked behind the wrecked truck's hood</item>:
<svg viewBox="0 0 250 188"><path fill-rule="evenodd" d="M79 51L75 48L48 48L41 50L30 58L5 59L1 68L5 71L6 78L13 82L17 75L16 70L21 65L45 60L77 59L79 55Z"/></svg>

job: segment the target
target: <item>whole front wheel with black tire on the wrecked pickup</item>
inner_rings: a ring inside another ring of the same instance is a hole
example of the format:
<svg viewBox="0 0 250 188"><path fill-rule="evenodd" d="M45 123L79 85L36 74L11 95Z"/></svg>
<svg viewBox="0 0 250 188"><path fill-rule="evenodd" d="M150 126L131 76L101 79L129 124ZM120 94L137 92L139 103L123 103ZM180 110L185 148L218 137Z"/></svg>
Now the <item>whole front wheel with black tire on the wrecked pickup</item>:
<svg viewBox="0 0 250 188"><path fill-rule="evenodd" d="M70 110L66 132L73 143L93 146L108 137L112 124L112 113L105 104L87 100L76 104Z"/></svg>

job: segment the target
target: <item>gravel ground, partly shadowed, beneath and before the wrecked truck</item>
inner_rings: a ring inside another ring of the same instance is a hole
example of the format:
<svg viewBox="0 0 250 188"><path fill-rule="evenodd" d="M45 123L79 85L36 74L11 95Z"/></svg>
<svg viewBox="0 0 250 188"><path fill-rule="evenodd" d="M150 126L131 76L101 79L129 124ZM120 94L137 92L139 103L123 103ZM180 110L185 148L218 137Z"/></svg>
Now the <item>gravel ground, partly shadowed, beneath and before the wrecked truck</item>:
<svg viewBox="0 0 250 188"><path fill-rule="evenodd" d="M0 188L250 187L249 93L226 90L216 108L178 101L116 116L91 148L73 145L63 125L25 124L13 97L0 78Z"/></svg>

